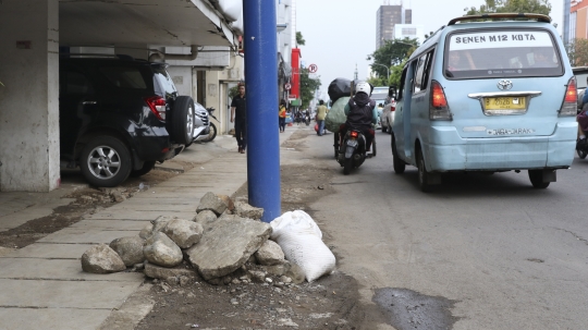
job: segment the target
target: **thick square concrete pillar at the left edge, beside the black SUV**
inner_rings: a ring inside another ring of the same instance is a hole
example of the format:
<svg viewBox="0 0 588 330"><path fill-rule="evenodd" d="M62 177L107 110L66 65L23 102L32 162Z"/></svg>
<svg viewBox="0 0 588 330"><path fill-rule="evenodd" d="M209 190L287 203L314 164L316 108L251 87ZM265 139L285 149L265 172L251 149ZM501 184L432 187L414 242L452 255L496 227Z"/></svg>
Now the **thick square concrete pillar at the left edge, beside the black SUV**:
<svg viewBox="0 0 588 330"><path fill-rule="evenodd" d="M0 1L0 191L48 192L59 170L59 1Z"/></svg>

